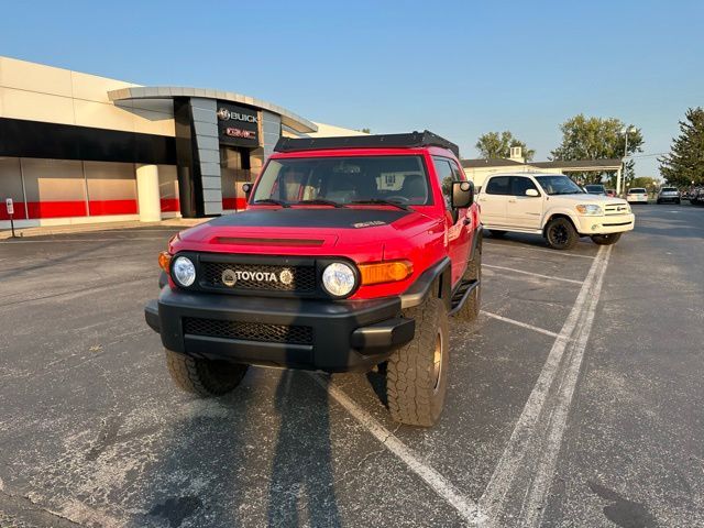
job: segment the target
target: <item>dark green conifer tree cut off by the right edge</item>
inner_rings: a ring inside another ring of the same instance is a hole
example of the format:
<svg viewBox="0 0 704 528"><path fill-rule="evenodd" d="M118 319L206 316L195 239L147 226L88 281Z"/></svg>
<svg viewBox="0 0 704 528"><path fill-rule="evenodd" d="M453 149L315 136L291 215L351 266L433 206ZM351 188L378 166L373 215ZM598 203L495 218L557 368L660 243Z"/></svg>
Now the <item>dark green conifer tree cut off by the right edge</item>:
<svg viewBox="0 0 704 528"><path fill-rule="evenodd" d="M668 184L689 187L704 184L704 109L690 108L680 121L680 135L672 140L670 154L659 158L660 174Z"/></svg>

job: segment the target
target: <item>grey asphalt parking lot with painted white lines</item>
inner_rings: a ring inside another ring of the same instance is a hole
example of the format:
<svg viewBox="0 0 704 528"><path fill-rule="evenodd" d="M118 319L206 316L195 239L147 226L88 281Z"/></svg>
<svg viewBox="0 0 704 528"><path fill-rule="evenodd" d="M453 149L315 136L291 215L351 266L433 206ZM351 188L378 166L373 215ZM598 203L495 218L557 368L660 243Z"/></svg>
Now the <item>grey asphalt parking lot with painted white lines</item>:
<svg viewBox="0 0 704 528"><path fill-rule="evenodd" d="M486 238L432 429L375 373L178 392L142 311L173 230L0 242L0 526L704 526L704 208L636 215Z"/></svg>

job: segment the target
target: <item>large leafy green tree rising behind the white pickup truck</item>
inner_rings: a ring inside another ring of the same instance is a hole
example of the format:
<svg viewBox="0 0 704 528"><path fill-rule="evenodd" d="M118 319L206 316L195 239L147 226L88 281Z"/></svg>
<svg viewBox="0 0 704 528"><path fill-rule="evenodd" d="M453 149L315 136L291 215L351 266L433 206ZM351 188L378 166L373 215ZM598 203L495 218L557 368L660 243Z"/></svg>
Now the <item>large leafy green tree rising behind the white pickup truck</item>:
<svg viewBox="0 0 704 528"><path fill-rule="evenodd" d="M628 127L631 129L631 127ZM560 125L562 143L551 152L551 160L608 160L624 157L626 147L625 123L616 118L586 118L580 113ZM644 144L640 129L628 132L628 154L642 152ZM626 163L624 182L632 179L635 162ZM604 177L614 186L615 173L580 173L576 175L585 183L598 184Z"/></svg>

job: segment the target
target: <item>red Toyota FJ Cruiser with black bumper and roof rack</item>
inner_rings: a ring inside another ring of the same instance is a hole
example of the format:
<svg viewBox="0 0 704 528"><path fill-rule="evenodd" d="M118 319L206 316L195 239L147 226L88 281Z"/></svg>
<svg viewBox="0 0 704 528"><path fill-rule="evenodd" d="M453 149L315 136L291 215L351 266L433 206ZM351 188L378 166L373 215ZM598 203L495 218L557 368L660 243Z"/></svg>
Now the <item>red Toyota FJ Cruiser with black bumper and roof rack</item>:
<svg viewBox="0 0 704 528"><path fill-rule="evenodd" d="M431 426L448 316L480 309L482 226L458 147L428 131L280 139L248 210L175 235L145 307L168 370L201 396L249 365L386 364L392 416Z"/></svg>

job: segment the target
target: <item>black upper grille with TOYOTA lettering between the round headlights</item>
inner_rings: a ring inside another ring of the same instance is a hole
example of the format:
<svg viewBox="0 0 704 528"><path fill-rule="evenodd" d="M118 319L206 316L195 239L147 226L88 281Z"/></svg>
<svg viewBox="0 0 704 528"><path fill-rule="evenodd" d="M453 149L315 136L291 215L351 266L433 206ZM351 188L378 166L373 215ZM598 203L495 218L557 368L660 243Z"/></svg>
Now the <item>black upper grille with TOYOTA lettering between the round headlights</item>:
<svg viewBox="0 0 704 528"><path fill-rule="evenodd" d="M226 271L229 271L230 279L233 276L237 278L233 285L227 285L222 282L222 274ZM200 284L208 288L296 293L316 290L316 267L312 265L276 266L201 262L200 276Z"/></svg>

